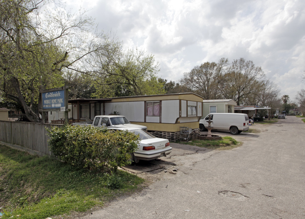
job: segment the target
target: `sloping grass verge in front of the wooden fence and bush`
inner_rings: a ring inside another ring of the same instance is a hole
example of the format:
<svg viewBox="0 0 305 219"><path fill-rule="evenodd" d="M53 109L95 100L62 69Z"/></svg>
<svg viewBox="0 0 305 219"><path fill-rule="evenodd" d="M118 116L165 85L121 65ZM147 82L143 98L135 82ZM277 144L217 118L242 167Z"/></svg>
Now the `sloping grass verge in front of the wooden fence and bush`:
<svg viewBox="0 0 305 219"><path fill-rule="evenodd" d="M0 145L0 218L54 218L84 212L135 191L143 181L125 171L91 173Z"/></svg>

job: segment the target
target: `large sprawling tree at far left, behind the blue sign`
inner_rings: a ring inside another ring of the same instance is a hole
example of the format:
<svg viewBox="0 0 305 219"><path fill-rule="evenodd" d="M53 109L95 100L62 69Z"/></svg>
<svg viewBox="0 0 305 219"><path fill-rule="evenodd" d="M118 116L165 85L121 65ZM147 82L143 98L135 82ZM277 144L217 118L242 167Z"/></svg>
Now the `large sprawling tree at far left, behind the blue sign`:
<svg viewBox="0 0 305 219"><path fill-rule="evenodd" d="M63 72L88 73L93 54L110 54L116 38L93 32L93 20L65 13L60 3L0 2L0 86L5 99L22 106L27 118L40 122L39 91L63 86ZM90 34L89 34L90 33Z"/></svg>

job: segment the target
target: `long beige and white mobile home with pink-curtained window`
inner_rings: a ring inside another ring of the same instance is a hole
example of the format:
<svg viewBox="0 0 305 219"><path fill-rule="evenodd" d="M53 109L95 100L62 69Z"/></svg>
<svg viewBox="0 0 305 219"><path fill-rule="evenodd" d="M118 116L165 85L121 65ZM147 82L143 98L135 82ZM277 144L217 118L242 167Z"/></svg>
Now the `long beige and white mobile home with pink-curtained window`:
<svg viewBox="0 0 305 219"><path fill-rule="evenodd" d="M156 137L176 141L180 127L199 130L199 119L203 116L202 101L203 98L194 93L74 99L69 100L69 117L73 121L84 121L93 120L97 115L116 113L133 124L146 126Z"/></svg>

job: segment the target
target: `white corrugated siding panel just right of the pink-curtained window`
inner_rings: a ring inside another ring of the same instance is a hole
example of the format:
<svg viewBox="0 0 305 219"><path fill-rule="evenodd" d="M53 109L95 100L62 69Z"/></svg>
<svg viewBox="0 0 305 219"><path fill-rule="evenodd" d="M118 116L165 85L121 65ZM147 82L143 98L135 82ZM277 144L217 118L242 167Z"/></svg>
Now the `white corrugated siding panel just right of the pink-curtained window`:
<svg viewBox="0 0 305 219"><path fill-rule="evenodd" d="M162 123L175 123L179 117L179 100L162 101ZM146 117L147 121L147 117Z"/></svg>

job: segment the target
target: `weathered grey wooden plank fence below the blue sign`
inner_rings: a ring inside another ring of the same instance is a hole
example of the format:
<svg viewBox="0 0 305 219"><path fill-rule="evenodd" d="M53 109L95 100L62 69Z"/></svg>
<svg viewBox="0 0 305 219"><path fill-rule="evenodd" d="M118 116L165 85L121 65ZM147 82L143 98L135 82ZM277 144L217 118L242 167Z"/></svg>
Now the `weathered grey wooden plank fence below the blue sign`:
<svg viewBox="0 0 305 219"><path fill-rule="evenodd" d="M62 125L0 121L0 143L31 154L52 155L46 130L52 126Z"/></svg>

